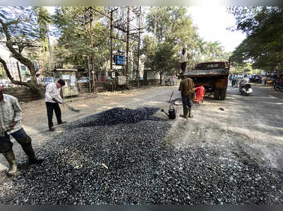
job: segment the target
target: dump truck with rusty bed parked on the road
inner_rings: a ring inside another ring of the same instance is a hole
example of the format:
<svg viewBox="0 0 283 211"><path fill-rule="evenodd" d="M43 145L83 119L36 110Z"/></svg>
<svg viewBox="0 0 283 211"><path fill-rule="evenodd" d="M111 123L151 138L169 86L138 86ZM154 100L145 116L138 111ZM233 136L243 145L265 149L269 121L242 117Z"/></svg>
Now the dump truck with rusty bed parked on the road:
<svg viewBox="0 0 283 211"><path fill-rule="evenodd" d="M229 61L202 62L195 68L185 71L183 76L192 78L195 87L204 86L205 94L214 95L216 100L226 100L228 77L230 70ZM177 73L178 78L180 73Z"/></svg>

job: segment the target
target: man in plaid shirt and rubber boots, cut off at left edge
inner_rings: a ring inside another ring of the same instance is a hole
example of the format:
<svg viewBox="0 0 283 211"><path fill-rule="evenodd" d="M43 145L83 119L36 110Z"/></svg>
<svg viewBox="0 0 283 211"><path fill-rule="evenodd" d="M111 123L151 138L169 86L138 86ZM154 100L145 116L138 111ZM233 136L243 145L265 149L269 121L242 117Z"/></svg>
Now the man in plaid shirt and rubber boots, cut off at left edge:
<svg viewBox="0 0 283 211"><path fill-rule="evenodd" d="M3 94L0 85L0 152L4 155L10 168L8 175L15 175L18 167L15 155L13 153L13 143L10 140L10 135L16 139L21 145L23 151L28 155L30 164L40 164L43 159L37 159L31 138L28 136L22 127L22 109L18 103L18 99L11 95Z"/></svg>

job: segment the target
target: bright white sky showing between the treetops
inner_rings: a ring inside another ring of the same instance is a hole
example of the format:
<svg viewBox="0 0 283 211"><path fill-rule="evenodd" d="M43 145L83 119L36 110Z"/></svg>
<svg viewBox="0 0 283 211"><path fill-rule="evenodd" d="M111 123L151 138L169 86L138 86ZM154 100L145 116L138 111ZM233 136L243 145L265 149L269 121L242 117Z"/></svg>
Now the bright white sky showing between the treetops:
<svg viewBox="0 0 283 211"><path fill-rule="evenodd" d="M50 13L54 12L54 7L46 8ZM187 11L192 16L193 24L197 26L200 37L207 42L219 41L225 52L233 52L246 38L246 35L240 31L226 30L236 24L236 19L226 12L225 6L190 6Z"/></svg>

